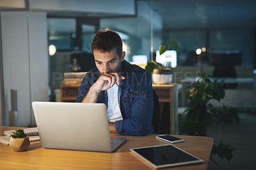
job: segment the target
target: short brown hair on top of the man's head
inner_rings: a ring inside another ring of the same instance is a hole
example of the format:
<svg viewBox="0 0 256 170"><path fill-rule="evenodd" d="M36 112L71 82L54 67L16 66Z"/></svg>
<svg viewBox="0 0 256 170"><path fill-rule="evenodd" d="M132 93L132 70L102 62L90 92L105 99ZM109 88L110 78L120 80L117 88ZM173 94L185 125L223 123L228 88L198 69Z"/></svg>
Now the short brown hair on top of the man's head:
<svg viewBox="0 0 256 170"><path fill-rule="evenodd" d="M102 52L110 52L116 49L116 54L121 57L123 51L122 39L115 31L105 29L98 31L93 37L91 50L100 50Z"/></svg>

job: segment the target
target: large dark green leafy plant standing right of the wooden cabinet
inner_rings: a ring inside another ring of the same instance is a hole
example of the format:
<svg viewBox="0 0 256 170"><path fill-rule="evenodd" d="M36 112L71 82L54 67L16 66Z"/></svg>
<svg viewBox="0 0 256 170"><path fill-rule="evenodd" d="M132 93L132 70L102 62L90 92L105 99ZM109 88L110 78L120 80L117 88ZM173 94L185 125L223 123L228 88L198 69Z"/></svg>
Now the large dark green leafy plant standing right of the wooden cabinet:
<svg viewBox="0 0 256 170"><path fill-rule="evenodd" d="M197 75L198 81L193 84L189 91L185 91L186 98L189 100L186 119L181 127L182 134L188 135L207 135L207 127L212 127L212 123L226 123L232 125L233 120L237 118L237 108L229 108L223 105L222 109L216 109L209 103L209 100L220 102L225 97L225 89L222 88L224 81L218 84L217 80L211 81L210 76L205 73ZM221 158L227 158L230 161L233 157L235 148L230 148L230 144L223 144L220 141L218 146L214 145L211 153L219 155ZM213 160L214 161L214 160ZM216 161L214 161L216 163Z"/></svg>

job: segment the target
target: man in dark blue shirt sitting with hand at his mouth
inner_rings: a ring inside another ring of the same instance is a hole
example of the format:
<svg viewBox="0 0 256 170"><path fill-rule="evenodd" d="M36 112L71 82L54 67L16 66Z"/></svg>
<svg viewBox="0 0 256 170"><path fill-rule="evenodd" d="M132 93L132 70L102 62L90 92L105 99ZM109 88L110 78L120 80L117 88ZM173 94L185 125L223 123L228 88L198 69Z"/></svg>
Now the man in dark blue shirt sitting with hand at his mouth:
<svg viewBox="0 0 256 170"><path fill-rule="evenodd" d="M110 132L153 134L150 73L124 60L122 40L114 31L98 31L91 49L97 68L84 76L76 102L106 104Z"/></svg>

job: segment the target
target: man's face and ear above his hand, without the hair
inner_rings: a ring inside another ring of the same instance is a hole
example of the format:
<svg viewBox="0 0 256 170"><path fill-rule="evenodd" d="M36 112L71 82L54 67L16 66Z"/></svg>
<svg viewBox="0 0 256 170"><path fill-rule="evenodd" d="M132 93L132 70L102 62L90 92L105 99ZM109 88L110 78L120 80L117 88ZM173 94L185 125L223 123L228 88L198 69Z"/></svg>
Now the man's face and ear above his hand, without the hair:
<svg viewBox="0 0 256 170"><path fill-rule="evenodd" d="M95 64L101 74L108 72L119 73L122 68L122 61L124 61L125 52L122 52L121 58L116 54L116 50L110 52L101 52L100 50L94 50L93 56Z"/></svg>

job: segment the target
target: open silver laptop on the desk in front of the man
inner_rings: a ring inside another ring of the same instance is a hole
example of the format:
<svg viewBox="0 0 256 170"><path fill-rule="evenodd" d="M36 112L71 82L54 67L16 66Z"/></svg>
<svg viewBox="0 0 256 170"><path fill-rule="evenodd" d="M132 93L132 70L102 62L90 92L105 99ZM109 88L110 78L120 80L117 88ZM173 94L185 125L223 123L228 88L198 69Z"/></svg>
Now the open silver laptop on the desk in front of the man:
<svg viewBox="0 0 256 170"><path fill-rule="evenodd" d="M126 138L111 137L105 104L32 102L43 148L115 151Z"/></svg>

